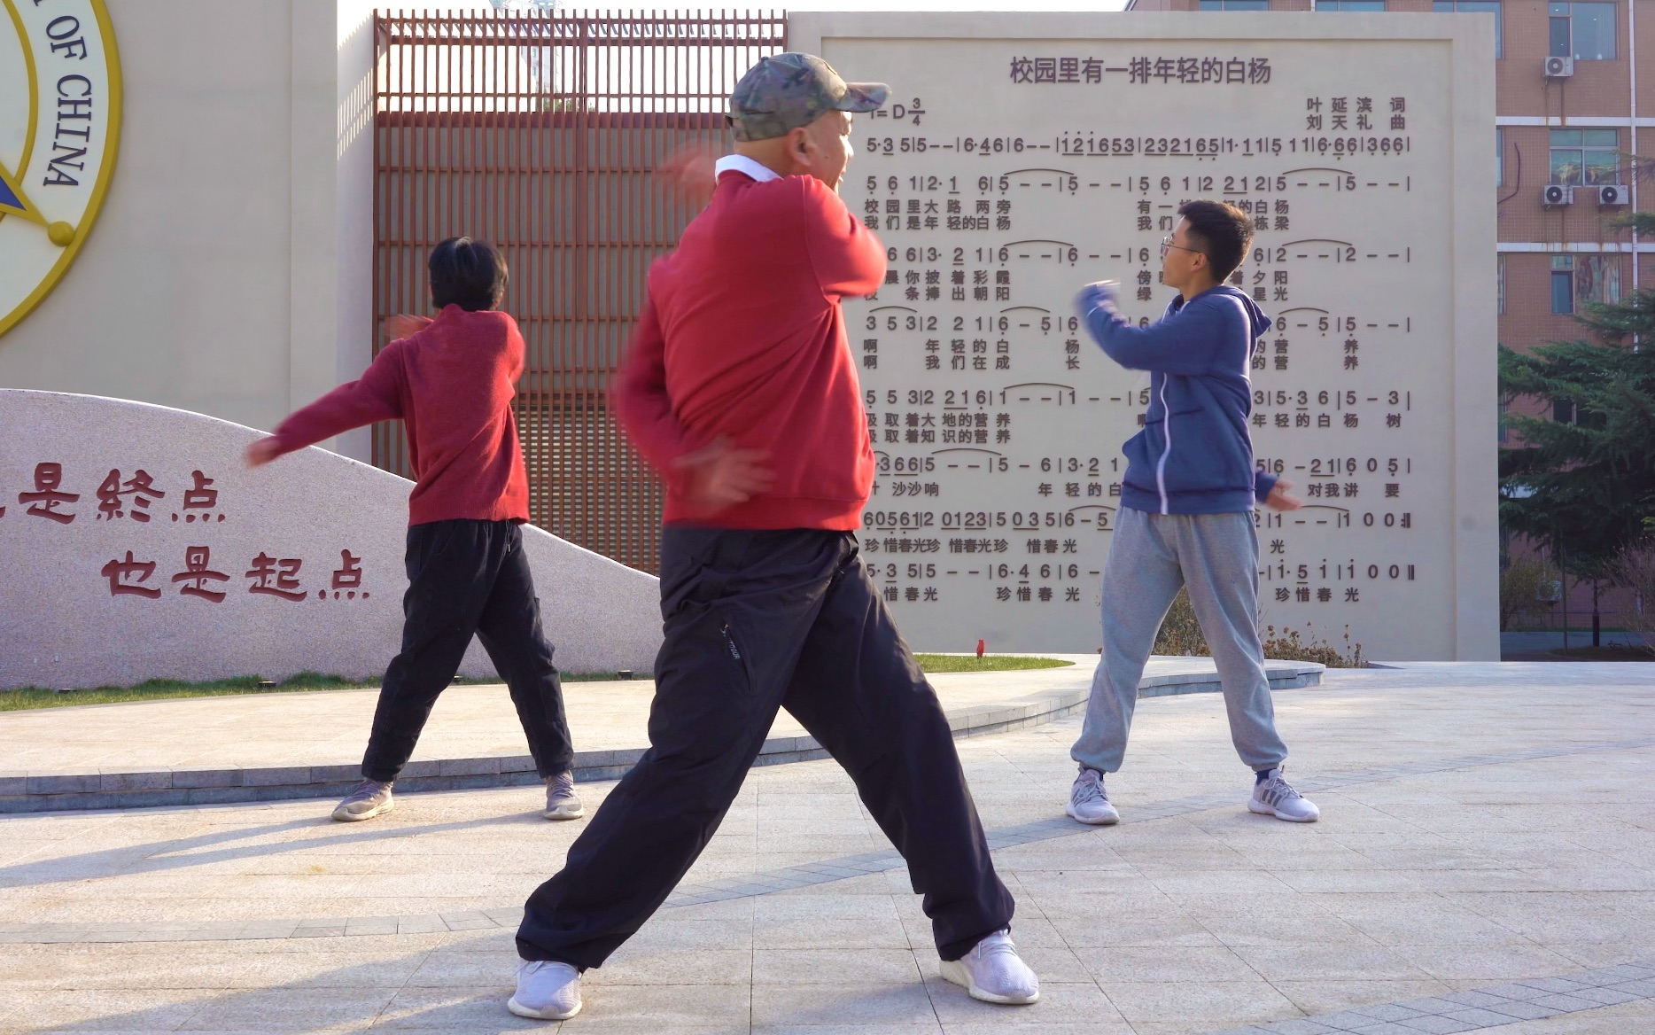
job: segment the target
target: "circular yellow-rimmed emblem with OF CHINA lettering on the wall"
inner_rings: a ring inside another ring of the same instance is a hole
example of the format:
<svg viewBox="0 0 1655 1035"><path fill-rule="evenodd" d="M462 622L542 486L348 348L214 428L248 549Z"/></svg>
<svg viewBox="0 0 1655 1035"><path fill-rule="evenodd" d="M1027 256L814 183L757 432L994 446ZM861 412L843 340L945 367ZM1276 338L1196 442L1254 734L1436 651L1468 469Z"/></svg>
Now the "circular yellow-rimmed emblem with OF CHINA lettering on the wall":
<svg viewBox="0 0 1655 1035"><path fill-rule="evenodd" d="M0 335L74 262L119 137L104 0L0 0Z"/></svg>

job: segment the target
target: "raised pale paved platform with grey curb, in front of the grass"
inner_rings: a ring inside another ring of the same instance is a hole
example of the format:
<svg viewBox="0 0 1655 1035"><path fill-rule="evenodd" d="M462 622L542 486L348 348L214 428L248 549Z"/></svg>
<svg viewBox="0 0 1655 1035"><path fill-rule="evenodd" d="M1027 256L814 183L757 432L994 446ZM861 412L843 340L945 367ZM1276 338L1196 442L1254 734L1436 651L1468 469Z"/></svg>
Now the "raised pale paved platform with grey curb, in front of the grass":
<svg viewBox="0 0 1655 1035"><path fill-rule="evenodd" d="M1086 702L1097 656L1061 669L932 677L958 737L1049 722ZM1322 666L1269 662L1276 689L1314 686ZM1216 692L1210 659L1155 657L1140 696ZM626 773L647 745L652 681L564 686L579 780ZM0 813L213 805L338 797L361 778L377 691L187 697L73 710L0 712ZM453 686L437 700L402 790L540 782L503 686ZM760 765L824 758L786 712Z"/></svg>

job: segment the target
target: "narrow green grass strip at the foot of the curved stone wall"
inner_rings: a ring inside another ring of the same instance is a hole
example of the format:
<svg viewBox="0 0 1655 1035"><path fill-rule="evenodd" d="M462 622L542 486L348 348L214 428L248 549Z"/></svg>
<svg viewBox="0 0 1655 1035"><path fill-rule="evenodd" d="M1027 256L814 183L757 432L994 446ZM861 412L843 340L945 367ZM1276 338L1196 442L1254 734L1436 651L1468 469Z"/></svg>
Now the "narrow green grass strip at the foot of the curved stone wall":
<svg viewBox="0 0 1655 1035"><path fill-rule="evenodd" d="M1006 672L1015 669L1056 669L1072 661L1056 657L1015 657L1010 654L986 654L971 657L970 654L915 654L920 667L927 672ZM564 682L602 682L619 679L614 672L564 672ZM649 679L649 672L639 672L634 679ZM300 672L283 679L275 686L258 676L238 676L235 679L213 679L209 682L184 682L180 679L151 679L129 687L96 687L91 691L48 691L40 687L23 687L22 691L0 691L0 712L17 712L22 709L56 709L73 704L124 704L129 700L170 700L177 697L227 697L232 694L283 694L293 691L349 691L372 689L377 679L354 681L343 676L323 676L319 672ZM496 682L493 679L457 679L460 684Z"/></svg>

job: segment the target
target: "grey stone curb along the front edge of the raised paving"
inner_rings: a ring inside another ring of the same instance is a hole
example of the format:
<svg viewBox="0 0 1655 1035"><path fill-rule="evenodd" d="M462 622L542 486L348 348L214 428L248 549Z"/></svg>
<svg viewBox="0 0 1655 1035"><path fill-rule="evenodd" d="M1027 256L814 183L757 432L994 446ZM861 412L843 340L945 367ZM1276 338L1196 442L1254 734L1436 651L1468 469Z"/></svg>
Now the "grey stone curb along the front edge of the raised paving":
<svg viewBox="0 0 1655 1035"><path fill-rule="evenodd" d="M1266 662L1273 691L1321 686L1324 666L1314 662ZM1145 676L1139 697L1218 692L1216 672ZM1043 694L1029 704L975 705L948 712L955 739L981 737L1041 725L1086 705L1091 687ZM574 778L617 780L644 755L644 749L576 752ZM765 742L755 765L783 765L828 758L814 737L773 737ZM361 767L295 765L238 767L215 770L149 772L96 770L79 773L0 772L0 813L35 813L99 808L156 808L177 805L223 805L230 802L280 802L290 798L333 798L361 780ZM397 778L399 792L467 790L480 787L526 787L540 783L530 755L482 758L440 758L410 762Z"/></svg>

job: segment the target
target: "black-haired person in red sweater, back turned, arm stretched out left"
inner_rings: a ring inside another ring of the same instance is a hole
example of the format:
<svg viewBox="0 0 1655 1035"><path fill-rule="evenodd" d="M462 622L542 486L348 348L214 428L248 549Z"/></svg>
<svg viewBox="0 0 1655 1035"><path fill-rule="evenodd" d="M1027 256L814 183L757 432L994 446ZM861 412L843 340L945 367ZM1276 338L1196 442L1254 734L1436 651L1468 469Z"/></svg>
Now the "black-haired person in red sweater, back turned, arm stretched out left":
<svg viewBox="0 0 1655 1035"><path fill-rule="evenodd" d="M528 477L511 399L523 376L523 336L498 311L506 263L493 245L450 237L430 253L435 320L392 316L396 341L359 381L293 412L247 450L260 467L323 439L402 419L409 493L402 651L386 669L362 783L334 820L372 820L392 808L391 785L414 753L437 696L475 634L511 689L535 767L546 782L548 820L584 815L569 767L574 747L563 686L540 624L540 599L523 555Z"/></svg>

